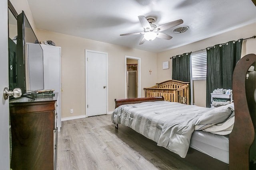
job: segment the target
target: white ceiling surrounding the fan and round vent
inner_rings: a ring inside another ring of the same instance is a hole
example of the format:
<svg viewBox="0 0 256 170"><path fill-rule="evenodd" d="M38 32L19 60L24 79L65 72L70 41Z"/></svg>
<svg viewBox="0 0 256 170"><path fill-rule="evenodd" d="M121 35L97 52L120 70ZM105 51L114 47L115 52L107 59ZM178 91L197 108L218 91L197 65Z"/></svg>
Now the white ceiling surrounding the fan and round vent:
<svg viewBox="0 0 256 170"><path fill-rule="evenodd" d="M38 29L156 53L256 22L251 0L28 0L28 4ZM178 19L184 23L163 31L173 37L170 40L156 38L139 45L143 35L120 34L143 31L140 15L155 17L156 26ZM181 26L189 30L172 32Z"/></svg>

